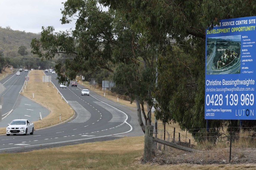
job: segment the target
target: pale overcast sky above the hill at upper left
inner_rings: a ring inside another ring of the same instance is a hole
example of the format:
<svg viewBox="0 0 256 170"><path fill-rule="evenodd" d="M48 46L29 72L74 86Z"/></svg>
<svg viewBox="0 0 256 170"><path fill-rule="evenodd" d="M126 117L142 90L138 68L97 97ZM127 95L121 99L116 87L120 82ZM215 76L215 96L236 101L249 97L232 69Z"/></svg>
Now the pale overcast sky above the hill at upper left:
<svg viewBox="0 0 256 170"><path fill-rule="evenodd" d="M55 31L75 27L61 25L61 10L66 0L0 0L0 27L10 26L12 30L41 33L42 26L53 26Z"/></svg>

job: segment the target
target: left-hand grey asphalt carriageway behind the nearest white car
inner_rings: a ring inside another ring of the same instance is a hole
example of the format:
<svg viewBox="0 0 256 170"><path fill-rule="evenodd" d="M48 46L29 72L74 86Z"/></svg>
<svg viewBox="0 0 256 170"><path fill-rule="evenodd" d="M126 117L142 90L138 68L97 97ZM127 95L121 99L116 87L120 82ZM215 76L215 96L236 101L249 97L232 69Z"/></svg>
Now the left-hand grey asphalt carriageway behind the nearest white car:
<svg viewBox="0 0 256 170"><path fill-rule="evenodd" d="M6 127L13 119L29 119L33 122L39 120L39 113L41 113L42 118L50 114L48 109L20 95L25 77L28 74L29 72L21 72L20 76L17 76L14 72L0 81L5 87L5 90L1 93L4 100L0 127Z"/></svg>

